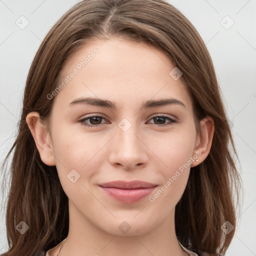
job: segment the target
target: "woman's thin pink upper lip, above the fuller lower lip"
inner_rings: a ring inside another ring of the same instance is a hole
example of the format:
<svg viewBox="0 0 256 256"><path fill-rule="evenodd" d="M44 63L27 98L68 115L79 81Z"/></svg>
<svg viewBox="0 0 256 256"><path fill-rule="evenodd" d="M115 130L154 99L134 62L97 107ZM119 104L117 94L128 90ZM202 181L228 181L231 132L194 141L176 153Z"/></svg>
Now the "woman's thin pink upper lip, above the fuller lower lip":
<svg viewBox="0 0 256 256"><path fill-rule="evenodd" d="M135 189L135 188L143 188L143 187L153 187L157 184L142 181L142 180L132 180L132 181L125 181L125 180L115 180L106 183L99 184L103 187L115 187L115 188L122 188L122 189Z"/></svg>

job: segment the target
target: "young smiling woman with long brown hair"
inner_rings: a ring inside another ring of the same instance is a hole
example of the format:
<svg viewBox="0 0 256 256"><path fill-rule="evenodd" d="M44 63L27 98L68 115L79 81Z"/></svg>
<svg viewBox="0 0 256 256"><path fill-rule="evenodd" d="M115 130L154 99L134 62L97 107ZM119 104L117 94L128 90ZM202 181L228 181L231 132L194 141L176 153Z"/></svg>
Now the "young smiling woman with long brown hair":
<svg viewBox="0 0 256 256"><path fill-rule="evenodd" d="M210 55L184 15L163 0L83 0L28 73L4 255L224 255L231 149Z"/></svg>

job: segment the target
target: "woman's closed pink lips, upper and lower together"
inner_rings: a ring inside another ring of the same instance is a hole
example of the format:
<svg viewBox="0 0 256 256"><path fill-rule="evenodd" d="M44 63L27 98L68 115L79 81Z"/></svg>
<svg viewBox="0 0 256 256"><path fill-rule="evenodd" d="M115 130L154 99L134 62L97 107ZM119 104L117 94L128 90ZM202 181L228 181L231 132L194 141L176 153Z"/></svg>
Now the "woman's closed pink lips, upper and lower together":
<svg viewBox="0 0 256 256"><path fill-rule="evenodd" d="M157 186L157 184L149 183L141 180L132 181L111 181L99 184L99 187L110 197L115 200L132 203L137 202L149 195Z"/></svg>

